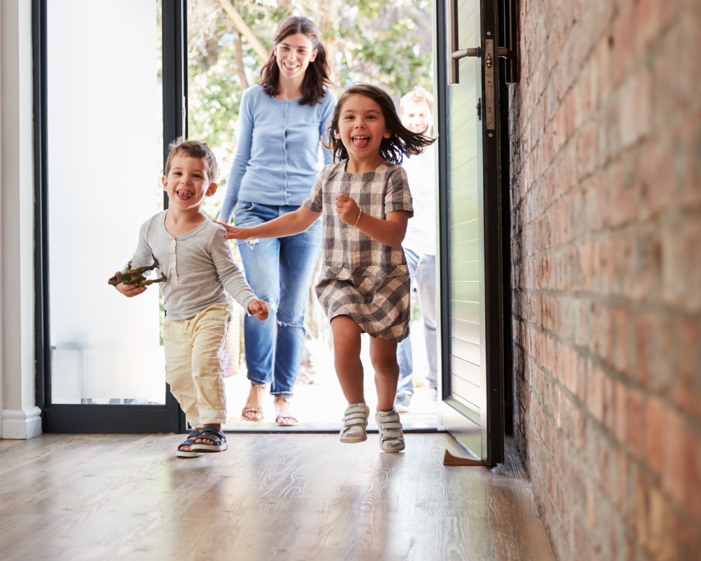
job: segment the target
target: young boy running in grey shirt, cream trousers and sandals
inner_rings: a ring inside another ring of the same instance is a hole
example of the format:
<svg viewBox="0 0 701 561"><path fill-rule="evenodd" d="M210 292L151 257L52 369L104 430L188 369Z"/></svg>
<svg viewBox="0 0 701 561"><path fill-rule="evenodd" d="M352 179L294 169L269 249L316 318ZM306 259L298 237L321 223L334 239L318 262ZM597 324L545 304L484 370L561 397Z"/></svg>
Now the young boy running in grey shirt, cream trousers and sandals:
<svg viewBox="0 0 701 561"><path fill-rule="evenodd" d="M184 458L228 447L221 430L226 393L220 358L233 311L231 297L259 320L268 317L268 306L256 298L233 261L226 231L202 212L205 197L217 191L215 177L217 159L207 144L182 138L172 142L163 176L168 210L144 222L131 261L134 268L152 265L155 258L167 278L160 283L166 312L165 379L193 427L177 449ZM147 287L116 288L134 297Z"/></svg>

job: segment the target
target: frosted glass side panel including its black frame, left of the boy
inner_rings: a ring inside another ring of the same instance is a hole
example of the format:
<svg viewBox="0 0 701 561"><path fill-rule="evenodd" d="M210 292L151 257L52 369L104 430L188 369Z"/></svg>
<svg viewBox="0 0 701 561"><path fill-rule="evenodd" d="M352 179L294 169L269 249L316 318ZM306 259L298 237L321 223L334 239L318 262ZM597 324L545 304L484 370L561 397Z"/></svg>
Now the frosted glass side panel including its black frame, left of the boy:
<svg viewBox="0 0 701 561"><path fill-rule="evenodd" d="M158 290L126 306L107 285L144 216L163 204L169 10L137 0L33 4L36 388L46 432L178 428Z"/></svg>

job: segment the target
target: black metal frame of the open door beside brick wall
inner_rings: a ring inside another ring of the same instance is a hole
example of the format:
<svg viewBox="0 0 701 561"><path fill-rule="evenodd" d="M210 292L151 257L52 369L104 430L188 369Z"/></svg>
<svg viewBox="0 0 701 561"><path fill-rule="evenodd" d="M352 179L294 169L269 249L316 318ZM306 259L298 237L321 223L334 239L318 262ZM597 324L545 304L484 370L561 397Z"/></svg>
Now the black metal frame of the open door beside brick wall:
<svg viewBox="0 0 701 561"><path fill-rule="evenodd" d="M451 0L447 0L451 1ZM482 0L481 1L481 39L479 47L484 52L484 41L488 38L497 41L508 40L508 48L513 52L515 48L510 33L512 26L516 25L512 20L515 0ZM447 38L447 9L445 0L434 2L436 22L435 50L435 76L436 85L436 119L438 130L447 131L448 116L448 57L449 49ZM499 27L499 13L503 18L503 29ZM504 26L505 16L510 18L508 25ZM499 44L499 43L498 43ZM501 43L503 45L503 43ZM500 45L500 46L501 46ZM477 45L475 45L477 46ZM501 53L500 53L501 54ZM485 60L481 58L482 76L484 78ZM482 435L486 443L486 457L488 464L497 464L504 459L504 431L505 431L505 402L510 403L511 396L505 396L505 388L511 389L511 385L505 384L505 377L510 376L511 368L511 329L510 329L510 259L508 241L510 240L510 221L508 205L508 167L503 168L503 158L508 163L508 152L501 154L504 147L508 147L508 122L503 123L503 117L508 108L501 108L500 102L505 99L502 90L505 86L505 69L510 76L515 76L515 58L508 60L507 64L499 63L498 58L493 61L497 74L494 80L494 99L496 104L494 130L486 129L484 119L484 104L482 104L482 137L483 137L483 170L484 170L484 306L486 308L484 342L486 350L486 403L482 415ZM509 81L515 79L509 78ZM486 99L484 91L484 79L482 80L482 100ZM503 138L505 137L505 138ZM438 142L438 174L440 178L447 178L449 173L447 134L442 134ZM506 177L502 177L506 173ZM505 183L503 182L505 179ZM439 182L438 189L439 208L439 255L440 266L437 271L440 294L442 298L438 302L440 309L440 353L442 363L442 400L464 417L469 417L467 408L450 396L450 313L449 313L449 194L445 185ZM508 371L507 371L508 367ZM479 451L475 451L478 452Z"/></svg>

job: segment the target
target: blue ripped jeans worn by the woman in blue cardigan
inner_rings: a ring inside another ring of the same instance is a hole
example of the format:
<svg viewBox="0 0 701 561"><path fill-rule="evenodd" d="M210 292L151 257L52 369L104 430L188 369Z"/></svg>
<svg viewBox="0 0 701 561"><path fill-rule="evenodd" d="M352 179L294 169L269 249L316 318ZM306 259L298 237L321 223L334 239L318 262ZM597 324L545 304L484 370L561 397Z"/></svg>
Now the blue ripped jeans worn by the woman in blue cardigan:
<svg viewBox="0 0 701 561"><path fill-rule="evenodd" d="M239 201L234 224L251 227L299 208ZM255 295L273 304L266 321L244 320L248 379L272 381L273 396L292 397L304 351L304 312L314 267L321 250L321 221L296 236L239 241L246 280Z"/></svg>

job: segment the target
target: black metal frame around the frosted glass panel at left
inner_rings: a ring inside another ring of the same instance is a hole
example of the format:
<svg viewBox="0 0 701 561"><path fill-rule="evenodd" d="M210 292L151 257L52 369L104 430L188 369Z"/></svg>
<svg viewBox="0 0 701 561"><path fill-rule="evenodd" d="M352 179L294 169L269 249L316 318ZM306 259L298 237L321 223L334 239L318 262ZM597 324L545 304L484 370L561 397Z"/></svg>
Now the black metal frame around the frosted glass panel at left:
<svg viewBox="0 0 701 561"><path fill-rule="evenodd" d="M163 154L187 135L186 0L163 0ZM51 403L49 317L46 0L32 1L34 79L34 283L36 405L45 433L182 433L185 415L166 384L165 405ZM165 162L165 158L163 160ZM168 208L168 196L164 207Z"/></svg>

